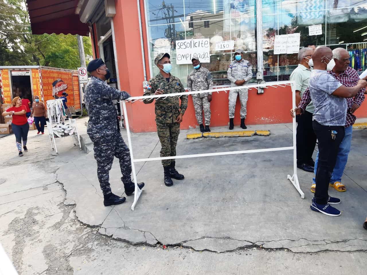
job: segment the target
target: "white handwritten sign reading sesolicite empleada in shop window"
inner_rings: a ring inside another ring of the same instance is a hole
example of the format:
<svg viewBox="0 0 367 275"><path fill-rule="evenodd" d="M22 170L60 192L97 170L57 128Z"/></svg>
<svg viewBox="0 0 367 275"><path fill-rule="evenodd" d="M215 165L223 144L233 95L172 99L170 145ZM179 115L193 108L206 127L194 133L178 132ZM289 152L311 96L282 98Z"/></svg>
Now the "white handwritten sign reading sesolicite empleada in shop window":
<svg viewBox="0 0 367 275"><path fill-rule="evenodd" d="M191 59L196 57L201 63L210 62L209 38L188 39L176 41L176 64L191 64Z"/></svg>

